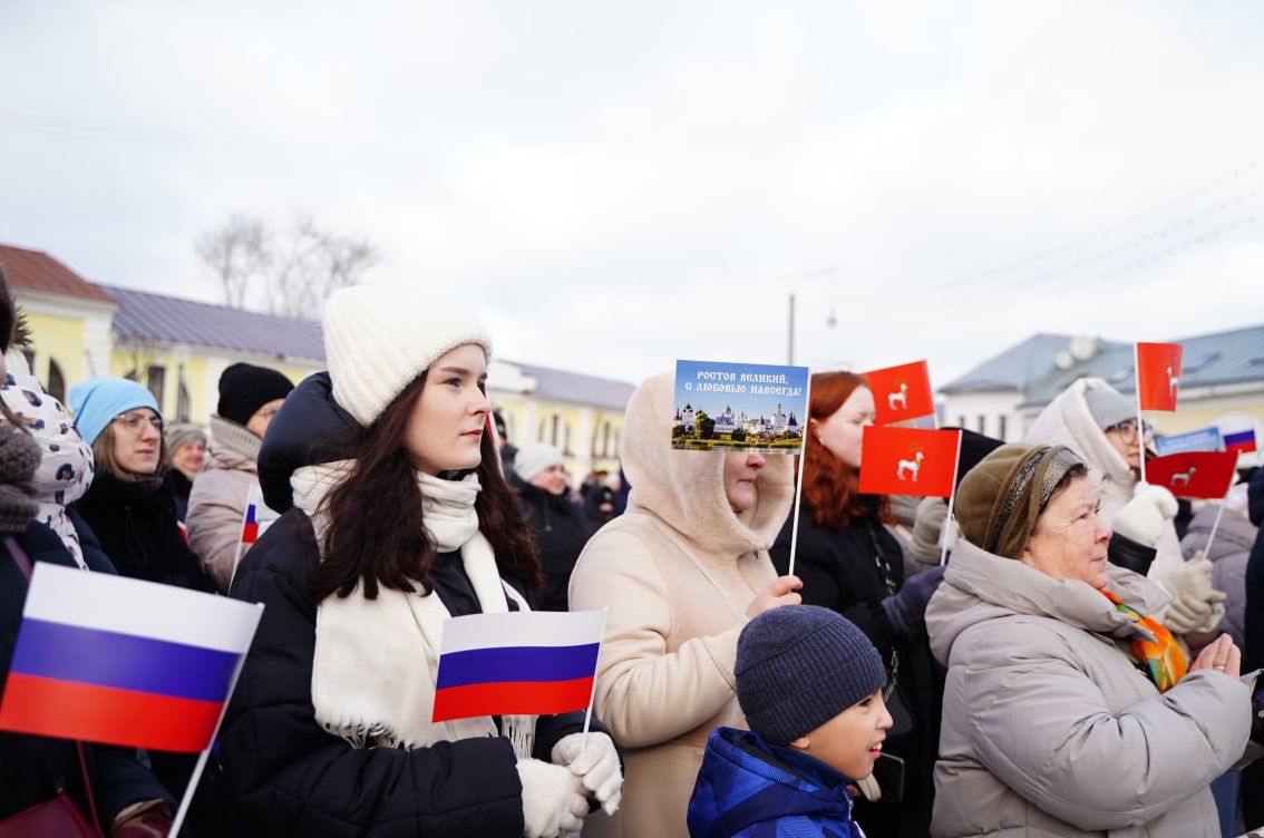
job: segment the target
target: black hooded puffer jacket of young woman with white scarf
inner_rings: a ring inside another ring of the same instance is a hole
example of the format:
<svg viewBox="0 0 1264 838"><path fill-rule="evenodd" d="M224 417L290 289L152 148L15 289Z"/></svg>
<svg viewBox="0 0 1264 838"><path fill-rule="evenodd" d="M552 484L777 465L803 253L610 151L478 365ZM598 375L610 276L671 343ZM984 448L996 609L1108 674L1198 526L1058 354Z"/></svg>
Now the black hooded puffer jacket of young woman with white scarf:
<svg viewBox="0 0 1264 838"><path fill-rule="evenodd" d="M265 501L288 511L243 559L230 590L265 605L220 733L233 834L516 838L523 827L522 786L508 739L364 750L316 722L317 603L310 576L319 551L310 519L293 508L288 478L322 454L336 456L339 446L329 441L345 434L344 417L329 377L310 377L273 418L259 455ZM322 434L330 436L321 449L303 441ZM477 599L451 559L436 559L435 590L453 616L471 613ZM535 756L547 761L552 746L579 732L583 720L583 713L541 717ZM594 719L594 729L604 728Z"/></svg>

